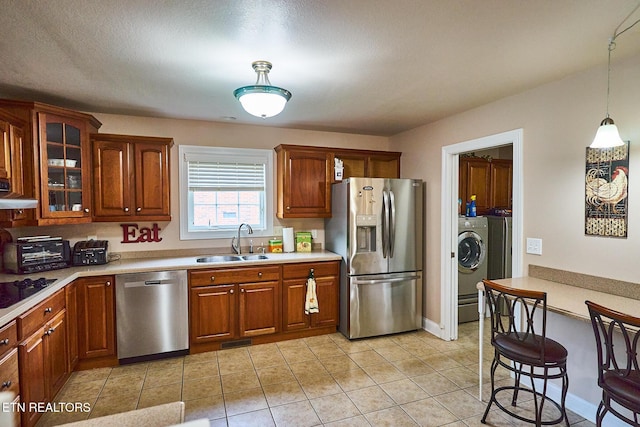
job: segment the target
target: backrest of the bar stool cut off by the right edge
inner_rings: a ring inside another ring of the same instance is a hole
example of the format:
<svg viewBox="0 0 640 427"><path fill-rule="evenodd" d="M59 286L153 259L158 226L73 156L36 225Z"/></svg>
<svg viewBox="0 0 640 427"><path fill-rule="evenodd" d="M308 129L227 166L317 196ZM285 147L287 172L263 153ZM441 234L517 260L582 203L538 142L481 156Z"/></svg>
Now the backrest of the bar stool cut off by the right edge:
<svg viewBox="0 0 640 427"><path fill-rule="evenodd" d="M585 301L591 316L591 325L598 351L598 384L602 386L603 375L620 378L637 376L638 341L640 340L640 318L611 310L591 301ZM618 339L616 336L621 337ZM620 345L623 348L620 348Z"/></svg>

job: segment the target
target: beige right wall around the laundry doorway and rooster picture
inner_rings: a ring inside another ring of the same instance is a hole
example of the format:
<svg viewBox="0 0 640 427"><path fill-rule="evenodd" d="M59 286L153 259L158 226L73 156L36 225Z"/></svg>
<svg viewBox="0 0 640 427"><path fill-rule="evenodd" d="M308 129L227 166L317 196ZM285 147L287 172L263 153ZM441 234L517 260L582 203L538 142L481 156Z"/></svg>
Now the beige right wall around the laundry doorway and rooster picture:
<svg viewBox="0 0 640 427"><path fill-rule="evenodd" d="M585 147L605 116L598 67L391 138L402 174L427 182L425 317L440 323L440 189L443 146L524 129L524 234L543 240L528 264L638 282L640 253L640 56L612 64L611 117L630 140L627 239L584 235Z"/></svg>

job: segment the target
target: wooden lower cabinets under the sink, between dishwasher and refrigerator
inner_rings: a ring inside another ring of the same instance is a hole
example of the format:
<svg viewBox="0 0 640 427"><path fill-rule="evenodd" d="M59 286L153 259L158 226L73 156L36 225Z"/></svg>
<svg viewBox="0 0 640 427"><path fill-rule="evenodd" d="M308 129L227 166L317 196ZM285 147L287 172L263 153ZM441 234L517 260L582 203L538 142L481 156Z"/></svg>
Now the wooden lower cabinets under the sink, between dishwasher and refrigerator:
<svg viewBox="0 0 640 427"><path fill-rule="evenodd" d="M304 303L312 269L319 312L308 315ZM335 332L339 282L339 261L191 270L190 352Z"/></svg>

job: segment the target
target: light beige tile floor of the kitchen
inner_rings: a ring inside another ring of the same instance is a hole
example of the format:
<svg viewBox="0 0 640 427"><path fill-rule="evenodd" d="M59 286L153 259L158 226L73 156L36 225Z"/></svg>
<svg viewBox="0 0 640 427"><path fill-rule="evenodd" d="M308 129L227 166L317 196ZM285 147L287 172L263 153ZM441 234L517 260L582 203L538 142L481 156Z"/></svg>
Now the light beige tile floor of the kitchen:
<svg viewBox="0 0 640 427"><path fill-rule="evenodd" d="M186 420L211 426L480 426L490 385L487 377L479 401L477 334L477 322L460 325L453 342L425 331L355 341L335 333L79 371L56 400L87 402L91 412L47 413L38 427L178 400ZM492 408L488 425L530 424Z"/></svg>

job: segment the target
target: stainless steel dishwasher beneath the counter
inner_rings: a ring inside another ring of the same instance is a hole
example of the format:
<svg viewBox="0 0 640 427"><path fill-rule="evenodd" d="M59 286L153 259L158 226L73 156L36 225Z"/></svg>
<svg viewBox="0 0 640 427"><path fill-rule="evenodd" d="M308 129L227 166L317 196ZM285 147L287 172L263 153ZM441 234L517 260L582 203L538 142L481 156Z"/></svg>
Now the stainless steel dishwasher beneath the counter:
<svg viewBox="0 0 640 427"><path fill-rule="evenodd" d="M116 275L118 359L134 362L186 354L187 294L185 270Z"/></svg>

